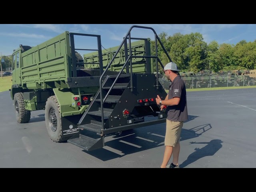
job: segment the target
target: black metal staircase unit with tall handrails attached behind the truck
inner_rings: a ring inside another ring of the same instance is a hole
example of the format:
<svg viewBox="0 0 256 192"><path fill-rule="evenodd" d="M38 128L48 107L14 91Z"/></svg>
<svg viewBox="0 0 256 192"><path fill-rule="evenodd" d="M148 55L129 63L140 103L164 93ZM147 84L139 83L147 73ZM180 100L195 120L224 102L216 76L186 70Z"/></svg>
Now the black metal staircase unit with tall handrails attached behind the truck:
<svg viewBox="0 0 256 192"><path fill-rule="evenodd" d="M104 147L104 137L107 134L164 123L166 121L166 116L160 112L160 107L157 106L155 101L156 95L160 95L163 98L166 96L164 88L158 81L157 62L160 62L160 60L157 56L157 48L156 56L148 56L146 54L143 56L143 58L156 58L156 75L151 71L144 74L132 72L132 57L142 57L132 56L131 49L129 49L130 54L128 54L126 41L129 39L129 44L131 44L130 31L134 27L148 28L142 26L132 26L130 28L126 38L124 38L122 44L116 51L117 54L120 48L123 45L125 46L126 62L124 66L118 75L105 75L116 57L115 54L100 77L100 88L98 92L92 101L90 101L88 108L77 124L79 128L78 134L70 138L68 140L69 143L86 151L92 151ZM148 29L153 30L152 28ZM156 35L155 31L154 33ZM160 42L157 35L156 40ZM160 44L166 52L161 42ZM169 56L168 58L170 59ZM160 64L164 68L161 62ZM100 60L100 66L102 66L102 60ZM128 72L127 74L122 74L124 69ZM149 100L150 98L153 100ZM144 100L144 102L140 103L138 100ZM129 112L130 114L127 115L125 112ZM154 116L156 119L146 122L144 116Z"/></svg>

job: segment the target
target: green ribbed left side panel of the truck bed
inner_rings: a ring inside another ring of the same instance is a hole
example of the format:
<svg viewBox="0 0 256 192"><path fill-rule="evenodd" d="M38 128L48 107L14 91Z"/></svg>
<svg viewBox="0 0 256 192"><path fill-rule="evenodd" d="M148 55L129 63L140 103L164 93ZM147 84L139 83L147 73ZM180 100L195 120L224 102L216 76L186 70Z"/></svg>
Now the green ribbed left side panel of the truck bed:
<svg viewBox="0 0 256 192"><path fill-rule="evenodd" d="M66 80L71 74L70 43L64 32L22 53L22 85Z"/></svg>

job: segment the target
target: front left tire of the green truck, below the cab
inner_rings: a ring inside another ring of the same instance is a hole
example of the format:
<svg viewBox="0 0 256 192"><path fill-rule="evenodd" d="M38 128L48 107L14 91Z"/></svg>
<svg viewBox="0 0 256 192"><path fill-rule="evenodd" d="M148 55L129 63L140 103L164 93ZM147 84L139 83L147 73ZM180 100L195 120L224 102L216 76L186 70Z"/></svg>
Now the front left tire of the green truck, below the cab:
<svg viewBox="0 0 256 192"><path fill-rule="evenodd" d="M27 123L30 121L30 110L26 110L23 93L14 94L14 108L16 111L16 120L18 123Z"/></svg>

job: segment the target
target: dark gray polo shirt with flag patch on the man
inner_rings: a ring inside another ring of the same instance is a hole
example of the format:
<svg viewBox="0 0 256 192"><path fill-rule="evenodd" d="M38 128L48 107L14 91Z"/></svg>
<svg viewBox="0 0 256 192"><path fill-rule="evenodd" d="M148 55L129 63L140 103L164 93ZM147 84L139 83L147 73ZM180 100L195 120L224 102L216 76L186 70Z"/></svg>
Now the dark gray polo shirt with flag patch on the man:
<svg viewBox="0 0 256 192"><path fill-rule="evenodd" d="M180 103L174 106L167 106L167 119L175 122L188 120L186 86L179 75L174 78L169 87L168 99L174 97L180 98Z"/></svg>

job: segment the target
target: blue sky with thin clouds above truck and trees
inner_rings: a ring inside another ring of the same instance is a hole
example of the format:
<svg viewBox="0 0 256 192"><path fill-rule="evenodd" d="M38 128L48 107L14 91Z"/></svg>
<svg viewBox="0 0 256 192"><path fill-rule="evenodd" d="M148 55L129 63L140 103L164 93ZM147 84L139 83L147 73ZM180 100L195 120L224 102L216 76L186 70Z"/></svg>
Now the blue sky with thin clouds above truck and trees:
<svg viewBox="0 0 256 192"><path fill-rule="evenodd" d="M104 48L120 46L133 25L152 27L158 35L161 32L166 32L169 36L177 32L199 32L207 43L216 40L219 44L236 44L241 40L253 42L256 39L256 24L0 24L0 52L2 56L8 56L20 44L36 46L65 31L100 35ZM154 40L154 33L148 29L133 28L131 36ZM96 38L94 39L86 39L84 42L75 40L78 43L75 46L96 49Z"/></svg>

